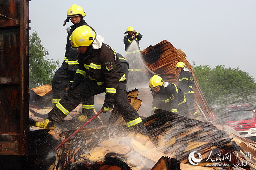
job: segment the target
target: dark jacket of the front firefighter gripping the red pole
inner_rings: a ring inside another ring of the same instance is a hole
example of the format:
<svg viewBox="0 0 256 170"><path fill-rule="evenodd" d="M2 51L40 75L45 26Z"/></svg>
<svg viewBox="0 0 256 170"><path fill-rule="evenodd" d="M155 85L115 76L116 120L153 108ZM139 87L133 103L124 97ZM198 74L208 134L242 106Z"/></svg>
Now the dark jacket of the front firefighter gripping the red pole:
<svg viewBox="0 0 256 170"><path fill-rule="evenodd" d="M98 35L97 35L98 36ZM100 48L87 47L84 54L78 56L78 69L73 81L80 83L87 75L97 82L98 86L105 83L106 93L116 93L120 81L126 82L125 74L116 52L102 42Z"/></svg>

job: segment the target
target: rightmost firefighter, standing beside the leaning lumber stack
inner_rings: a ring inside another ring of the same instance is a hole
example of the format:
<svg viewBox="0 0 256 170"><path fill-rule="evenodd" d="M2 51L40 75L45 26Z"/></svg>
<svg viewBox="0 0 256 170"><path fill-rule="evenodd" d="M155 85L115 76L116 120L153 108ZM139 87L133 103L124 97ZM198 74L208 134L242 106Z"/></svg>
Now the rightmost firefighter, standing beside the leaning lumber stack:
<svg viewBox="0 0 256 170"><path fill-rule="evenodd" d="M178 86L181 88L183 91L186 99L187 99L187 105L189 108L189 112L193 115L193 117L198 120L198 113L195 110L193 106L194 102L194 91L193 87L195 85L195 82L193 80L193 76L190 73L189 69L186 67L184 62L178 62L176 64L176 69L180 71L180 76L179 76L179 84Z"/></svg>

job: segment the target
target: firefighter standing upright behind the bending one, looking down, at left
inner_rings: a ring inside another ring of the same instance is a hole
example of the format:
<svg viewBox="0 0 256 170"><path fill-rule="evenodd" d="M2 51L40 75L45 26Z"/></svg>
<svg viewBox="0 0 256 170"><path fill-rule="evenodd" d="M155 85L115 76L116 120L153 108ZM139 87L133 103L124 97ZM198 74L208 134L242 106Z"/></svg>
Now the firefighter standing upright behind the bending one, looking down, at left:
<svg viewBox="0 0 256 170"><path fill-rule="evenodd" d="M87 25L85 20L83 20L83 17L85 17L85 15L86 14L83 11L83 8L76 4L72 5L67 11L67 20L64 22L64 25L69 20L71 20L71 22L74 25L70 26L71 29L69 29L70 27L67 27L68 34L67 34L67 44L66 44L64 61L61 65L61 68L59 68L55 72L55 76L53 77L53 80L52 80L52 92L53 92L52 103L54 104L58 103L62 99L62 97L66 93L66 87L69 88L68 84L70 83L70 81L73 80L73 77L76 74L76 69L78 66L78 62L77 62L78 51L73 50L71 48L70 38L74 29L82 25ZM72 89L72 87L70 89ZM93 112L93 104L94 104L93 97L83 100L82 115L80 115L77 118L79 121L86 121L88 118L93 117L95 115Z"/></svg>

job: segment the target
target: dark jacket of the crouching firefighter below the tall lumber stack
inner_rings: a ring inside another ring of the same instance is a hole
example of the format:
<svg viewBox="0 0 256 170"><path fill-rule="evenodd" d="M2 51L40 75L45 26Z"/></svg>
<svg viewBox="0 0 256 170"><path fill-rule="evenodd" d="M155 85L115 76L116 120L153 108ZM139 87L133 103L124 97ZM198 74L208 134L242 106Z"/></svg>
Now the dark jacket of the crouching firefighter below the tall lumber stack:
<svg viewBox="0 0 256 170"><path fill-rule="evenodd" d="M186 103L186 98L180 87L174 83L164 82L160 90L153 95L153 109L162 109L173 113L178 113L178 106Z"/></svg>

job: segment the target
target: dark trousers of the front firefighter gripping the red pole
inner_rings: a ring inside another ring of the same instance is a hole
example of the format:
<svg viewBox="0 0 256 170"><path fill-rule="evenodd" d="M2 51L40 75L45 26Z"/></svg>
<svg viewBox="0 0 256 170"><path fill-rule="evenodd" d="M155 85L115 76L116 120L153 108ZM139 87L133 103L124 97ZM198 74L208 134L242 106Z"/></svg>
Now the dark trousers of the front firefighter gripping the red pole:
<svg viewBox="0 0 256 170"><path fill-rule="evenodd" d="M57 122L62 121L84 99L88 99L100 93L106 93L106 83L98 86L97 82L89 78L83 81L74 90L68 90L56 106L48 113ZM115 103L128 127L134 126L143 135L147 132L137 111L128 103L126 85L119 82L115 94Z"/></svg>

